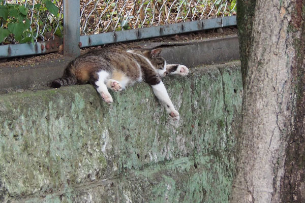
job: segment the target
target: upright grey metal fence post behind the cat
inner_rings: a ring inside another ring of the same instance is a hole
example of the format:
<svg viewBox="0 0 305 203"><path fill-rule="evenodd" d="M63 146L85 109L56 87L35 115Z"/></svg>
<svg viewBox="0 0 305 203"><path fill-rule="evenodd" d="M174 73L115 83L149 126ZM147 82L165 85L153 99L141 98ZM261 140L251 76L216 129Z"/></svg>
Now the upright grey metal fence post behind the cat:
<svg viewBox="0 0 305 203"><path fill-rule="evenodd" d="M64 55L66 56L78 56L80 54L79 1L64 0Z"/></svg>

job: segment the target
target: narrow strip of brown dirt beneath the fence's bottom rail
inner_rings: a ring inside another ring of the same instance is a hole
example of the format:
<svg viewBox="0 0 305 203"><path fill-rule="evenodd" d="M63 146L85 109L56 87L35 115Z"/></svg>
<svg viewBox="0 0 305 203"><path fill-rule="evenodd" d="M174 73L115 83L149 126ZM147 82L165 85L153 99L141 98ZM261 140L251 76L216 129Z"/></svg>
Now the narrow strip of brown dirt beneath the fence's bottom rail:
<svg viewBox="0 0 305 203"><path fill-rule="evenodd" d="M184 33L181 35L173 35L166 37L159 37L135 42L127 42L127 43L118 43L118 44L110 44L110 45L102 45L97 47L85 48L81 49L81 54L88 52L91 49L97 49L101 47L117 47L121 46L124 48L132 48L139 44L139 42L160 42L160 43L173 43L173 42L192 42L209 38L219 38L224 36L233 36L237 34L236 27L226 27L226 28L218 28L218 29L210 29L197 31L192 33ZM26 57L14 57L14 58L4 58L0 59L0 67L20 67L26 65L37 65L41 62L45 62L51 59L61 59L64 58L62 52L43 54L38 56L26 56Z"/></svg>

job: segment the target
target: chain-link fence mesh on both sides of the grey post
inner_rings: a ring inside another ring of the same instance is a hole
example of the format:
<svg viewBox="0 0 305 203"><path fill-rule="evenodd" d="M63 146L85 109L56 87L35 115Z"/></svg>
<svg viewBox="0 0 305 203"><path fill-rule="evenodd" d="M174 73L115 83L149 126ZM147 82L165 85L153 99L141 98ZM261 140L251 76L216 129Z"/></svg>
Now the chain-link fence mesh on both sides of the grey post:
<svg viewBox="0 0 305 203"><path fill-rule="evenodd" d="M80 0L80 35L236 14L236 0ZM62 0L0 0L0 43L63 36Z"/></svg>

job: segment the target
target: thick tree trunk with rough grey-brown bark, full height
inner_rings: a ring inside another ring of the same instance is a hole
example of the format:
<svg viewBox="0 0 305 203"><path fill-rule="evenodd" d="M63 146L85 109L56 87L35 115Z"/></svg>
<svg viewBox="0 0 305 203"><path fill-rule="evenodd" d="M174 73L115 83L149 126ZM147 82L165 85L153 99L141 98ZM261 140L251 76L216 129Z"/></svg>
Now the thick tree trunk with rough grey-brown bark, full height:
<svg viewBox="0 0 305 203"><path fill-rule="evenodd" d="M305 0L254 2L237 2L246 58L241 58L243 116L230 200L305 202Z"/></svg>

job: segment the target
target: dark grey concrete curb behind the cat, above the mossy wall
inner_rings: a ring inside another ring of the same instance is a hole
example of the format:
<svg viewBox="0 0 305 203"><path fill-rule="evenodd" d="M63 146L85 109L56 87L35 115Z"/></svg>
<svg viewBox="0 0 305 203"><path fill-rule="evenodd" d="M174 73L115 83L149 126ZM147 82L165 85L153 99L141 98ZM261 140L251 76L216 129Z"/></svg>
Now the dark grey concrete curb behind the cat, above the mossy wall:
<svg viewBox="0 0 305 203"><path fill-rule="evenodd" d="M139 43L139 45L147 48L161 46L162 54L168 63L181 63L188 67L239 59L237 36L187 43L150 43L148 45ZM17 68L0 67L0 93L16 89L44 89L50 81L63 75L71 60L70 57L63 57L37 65Z"/></svg>

